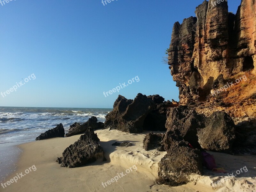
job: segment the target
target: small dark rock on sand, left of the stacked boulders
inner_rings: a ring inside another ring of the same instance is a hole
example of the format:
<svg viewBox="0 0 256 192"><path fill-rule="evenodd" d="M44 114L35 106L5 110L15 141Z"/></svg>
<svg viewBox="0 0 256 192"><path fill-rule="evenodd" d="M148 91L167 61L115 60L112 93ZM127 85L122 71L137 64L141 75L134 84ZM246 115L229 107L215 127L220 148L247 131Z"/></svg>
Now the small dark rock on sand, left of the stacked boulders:
<svg viewBox="0 0 256 192"><path fill-rule="evenodd" d="M161 133L148 133L143 140L143 149L146 151L152 149L158 149L159 151L164 151L164 147L161 143L164 134Z"/></svg>

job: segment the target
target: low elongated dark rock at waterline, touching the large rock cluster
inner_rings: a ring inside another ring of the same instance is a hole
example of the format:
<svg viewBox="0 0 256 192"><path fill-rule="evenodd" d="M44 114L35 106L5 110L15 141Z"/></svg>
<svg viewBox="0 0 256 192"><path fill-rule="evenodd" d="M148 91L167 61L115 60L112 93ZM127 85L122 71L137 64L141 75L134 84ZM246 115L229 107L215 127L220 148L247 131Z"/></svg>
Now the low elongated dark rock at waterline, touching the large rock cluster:
<svg viewBox="0 0 256 192"><path fill-rule="evenodd" d="M92 116L91 118L89 118L89 120L87 122L85 122L82 125L80 125L78 123L74 123L74 124L70 125L68 133L66 133L66 137L70 137L70 136L77 135L77 134L82 134L88 129L88 127L92 127L93 130L103 129L104 124L102 122L97 122L97 121L98 121L97 117Z"/></svg>

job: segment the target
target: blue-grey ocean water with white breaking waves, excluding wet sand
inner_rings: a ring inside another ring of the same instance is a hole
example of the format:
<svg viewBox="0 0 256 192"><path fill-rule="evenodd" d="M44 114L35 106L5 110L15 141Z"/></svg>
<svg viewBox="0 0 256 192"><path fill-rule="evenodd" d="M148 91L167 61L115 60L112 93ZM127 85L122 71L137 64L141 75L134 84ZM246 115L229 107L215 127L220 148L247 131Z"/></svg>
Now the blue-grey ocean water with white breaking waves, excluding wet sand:
<svg viewBox="0 0 256 192"><path fill-rule="evenodd" d="M35 140L38 135L63 124L67 133L75 122L96 116L105 122L113 108L0 107L0 143Z"/></svg>

